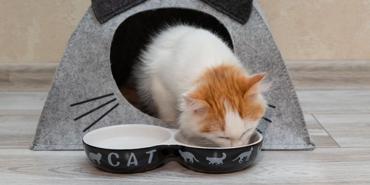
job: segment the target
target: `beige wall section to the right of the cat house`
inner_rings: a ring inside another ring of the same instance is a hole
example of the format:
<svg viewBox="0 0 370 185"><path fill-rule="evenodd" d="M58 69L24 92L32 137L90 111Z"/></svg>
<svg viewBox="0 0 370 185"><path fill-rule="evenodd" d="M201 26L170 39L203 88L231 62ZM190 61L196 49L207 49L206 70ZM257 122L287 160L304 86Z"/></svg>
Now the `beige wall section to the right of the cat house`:
<svg viewBox="0 0 370 185"><path fill-rule="evenodd" d="M285 60L369 60L370 0L258 0Z"/></svg>

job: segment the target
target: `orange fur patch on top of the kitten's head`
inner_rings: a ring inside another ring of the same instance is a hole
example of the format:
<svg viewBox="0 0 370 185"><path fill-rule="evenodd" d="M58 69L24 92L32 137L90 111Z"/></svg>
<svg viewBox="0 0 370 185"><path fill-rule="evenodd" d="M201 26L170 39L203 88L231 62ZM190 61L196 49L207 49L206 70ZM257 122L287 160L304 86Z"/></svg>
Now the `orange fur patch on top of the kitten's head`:
<svg viewBox="0 0 370 185"><path fill-rule="evenodd" d="M247 76L246 71L233 65L209 68L194 83L196 88L188 97L205 103L206 114L199 122L201 132L225 130L225 103L242 119L258 120L265 103L258 98L258 83L265 73Z"/></svg>

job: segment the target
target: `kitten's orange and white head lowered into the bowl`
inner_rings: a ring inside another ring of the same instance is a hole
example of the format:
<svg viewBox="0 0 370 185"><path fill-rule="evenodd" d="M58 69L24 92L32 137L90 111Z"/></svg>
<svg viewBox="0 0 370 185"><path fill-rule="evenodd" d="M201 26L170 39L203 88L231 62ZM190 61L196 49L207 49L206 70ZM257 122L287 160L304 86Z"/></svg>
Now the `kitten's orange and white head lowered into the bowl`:
<svg viewBox="0 0 370 185"><path fill-rule="evenodd" d="M189 136L205 137L220 147L246 145L265 113L260 81L265 73L245 75L236 66L209 69L183 94L180 126Z"/></svg>

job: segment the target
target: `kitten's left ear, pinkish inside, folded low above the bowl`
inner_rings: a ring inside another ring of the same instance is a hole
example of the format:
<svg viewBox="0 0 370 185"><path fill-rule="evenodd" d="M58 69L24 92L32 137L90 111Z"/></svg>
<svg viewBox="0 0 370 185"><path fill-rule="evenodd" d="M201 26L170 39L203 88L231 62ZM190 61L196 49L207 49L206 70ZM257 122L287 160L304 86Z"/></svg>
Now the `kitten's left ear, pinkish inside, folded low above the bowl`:
<svg viewBox="0 0 370 185"><path fill-rule="evenodd" d="M206 114L207 107L209 107L207 102L196 98L196 96L191 93L182 94L182 98L184 98L186 106L196 115L203 116Z"/></svg>

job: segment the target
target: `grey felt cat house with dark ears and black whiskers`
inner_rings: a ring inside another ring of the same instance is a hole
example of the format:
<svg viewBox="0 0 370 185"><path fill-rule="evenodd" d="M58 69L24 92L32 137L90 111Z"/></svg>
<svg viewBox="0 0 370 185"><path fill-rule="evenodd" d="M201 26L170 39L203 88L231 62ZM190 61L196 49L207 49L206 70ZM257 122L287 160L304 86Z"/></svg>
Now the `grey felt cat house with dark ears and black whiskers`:
<svg viewBox="0 0 370 185"><path fill-rule="evenodd" d="M259 125L264 149L313 149L297 95L258 4L252 0L92 0L55 73L31 149L83 149L82 137L118 124L174 124L138 110L122 96L135 57L165 23L217 32L249 73L265 72L273 87Z"/></svg>

